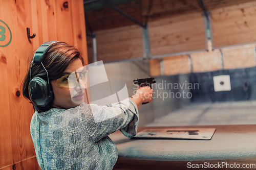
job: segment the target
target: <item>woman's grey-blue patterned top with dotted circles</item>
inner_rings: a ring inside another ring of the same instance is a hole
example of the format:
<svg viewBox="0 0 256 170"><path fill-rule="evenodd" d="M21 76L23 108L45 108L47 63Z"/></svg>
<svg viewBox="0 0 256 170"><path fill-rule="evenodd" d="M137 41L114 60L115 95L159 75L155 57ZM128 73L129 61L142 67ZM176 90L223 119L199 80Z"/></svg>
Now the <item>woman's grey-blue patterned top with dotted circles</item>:
<svg viewBox="0 0 256 170"><path fill-rule="evenodd" d="M127 137L135 136L138 114L129 99L108 106L82 103L67 110L36 111L30 132L40 168L112 169L118 152L108 135L120 129Z"/></svg>

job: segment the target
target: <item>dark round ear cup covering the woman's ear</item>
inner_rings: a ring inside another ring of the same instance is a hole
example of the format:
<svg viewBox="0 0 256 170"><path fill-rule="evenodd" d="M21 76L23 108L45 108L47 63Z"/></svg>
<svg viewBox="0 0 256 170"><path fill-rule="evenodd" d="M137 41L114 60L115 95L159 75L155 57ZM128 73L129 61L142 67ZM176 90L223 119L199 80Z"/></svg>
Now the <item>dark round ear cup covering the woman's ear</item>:
<svg viewBox="0 0 256 170"><path fill-rule="evenodd" d="M34 105L48 105L52 100L52 95L49 94L49 85L44 79L35 77L29 82L29 97Z"/></svg>

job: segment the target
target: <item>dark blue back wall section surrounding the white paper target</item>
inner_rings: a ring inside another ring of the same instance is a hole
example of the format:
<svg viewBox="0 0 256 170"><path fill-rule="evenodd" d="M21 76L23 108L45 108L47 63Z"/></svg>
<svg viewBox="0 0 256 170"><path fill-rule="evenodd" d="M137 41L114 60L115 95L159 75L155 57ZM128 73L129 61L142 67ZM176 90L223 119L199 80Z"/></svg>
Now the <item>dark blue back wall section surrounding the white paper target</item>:
<svg viewBox="0 0 256 170"><path fill-rule="evenodd" d="M213 77L229 75L231 91L214 91ZM191 102L222 102L256 100L256 67L218 70L189 74L190 83L198 83L199 89L191 89Z"/></svg>

